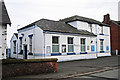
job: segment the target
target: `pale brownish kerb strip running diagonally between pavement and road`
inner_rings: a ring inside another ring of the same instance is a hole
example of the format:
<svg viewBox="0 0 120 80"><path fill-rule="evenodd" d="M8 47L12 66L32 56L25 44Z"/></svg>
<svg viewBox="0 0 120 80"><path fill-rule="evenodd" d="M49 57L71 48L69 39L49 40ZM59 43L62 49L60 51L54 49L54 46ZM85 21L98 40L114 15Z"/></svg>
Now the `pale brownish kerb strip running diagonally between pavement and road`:
<svg viewBox="0 0 120 80"><path fill-rule="evenodd" d="M92 71L92 72L86 72L86 73L80 73L80 74L76 74L76 75L74 74L74 75L70 75L70 76L65 76L65 77L63 77L63 79L78 77L78 76L80 77L80 76L85 76L85 75L89 75L89 74L104 72L104 71L118 69L118 68L120 68L120 67L119 66L117 66L117 67L105 67L104 69L100 69L100 70L96 70L96 71Z"/></svg>

